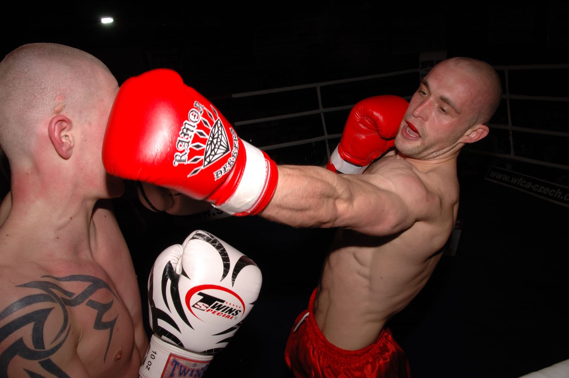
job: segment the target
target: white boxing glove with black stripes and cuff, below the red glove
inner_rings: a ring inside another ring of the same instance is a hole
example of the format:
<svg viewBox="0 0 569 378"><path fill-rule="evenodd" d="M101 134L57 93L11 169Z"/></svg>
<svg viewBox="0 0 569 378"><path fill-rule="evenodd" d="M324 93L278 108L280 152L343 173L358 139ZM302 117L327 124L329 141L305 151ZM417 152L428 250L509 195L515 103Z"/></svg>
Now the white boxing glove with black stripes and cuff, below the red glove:
<svg viewBox="0 0 569 378"><path fill-rule="evenodd" d="M158 256L148 281L150 339L144 378L203 376L251 311L261 270L206 231Z"/></svg>

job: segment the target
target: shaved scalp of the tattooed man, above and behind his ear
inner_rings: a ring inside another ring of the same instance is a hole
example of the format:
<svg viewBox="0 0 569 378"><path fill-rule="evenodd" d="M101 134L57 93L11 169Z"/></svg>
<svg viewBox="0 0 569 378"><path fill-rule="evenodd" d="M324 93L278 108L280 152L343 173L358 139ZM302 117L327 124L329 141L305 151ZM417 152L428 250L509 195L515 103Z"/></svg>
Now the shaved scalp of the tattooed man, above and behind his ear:
<svg viewBox="0 0 569 378"><path fill-rule="evenodd" d="M72 47L34 43L0 62L0 147L11 165L32 155L38 132L57 114L90 117L108 68Z"/></svg>

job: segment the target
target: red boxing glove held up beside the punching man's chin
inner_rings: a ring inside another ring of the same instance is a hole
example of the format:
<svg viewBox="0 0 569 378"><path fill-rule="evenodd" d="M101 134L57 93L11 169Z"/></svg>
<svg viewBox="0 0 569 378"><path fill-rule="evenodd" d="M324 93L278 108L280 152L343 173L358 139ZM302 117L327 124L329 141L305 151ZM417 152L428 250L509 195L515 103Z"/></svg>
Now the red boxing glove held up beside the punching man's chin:
<svg viewBox="0 0 569 378"><path fill-rule="evenodd" d="M364 172L373 160L395 145L407 106L404 98L394 95L369 97L356 103L326 168L336 173Z"/></svg>

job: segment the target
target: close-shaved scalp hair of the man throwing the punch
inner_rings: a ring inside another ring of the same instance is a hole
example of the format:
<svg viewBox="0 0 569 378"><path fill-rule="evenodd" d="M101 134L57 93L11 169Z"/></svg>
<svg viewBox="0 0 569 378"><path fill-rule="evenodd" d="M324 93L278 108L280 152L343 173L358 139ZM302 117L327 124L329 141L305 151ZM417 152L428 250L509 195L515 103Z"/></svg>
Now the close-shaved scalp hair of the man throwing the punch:
<svg viewBox="0 0 569 378"><path fill-rule="evenodd" d="M479 123L487 124L500 106L502 95L502 83L496 70L484 61L468 57L451 58L442 63L455 65L456 68L465 70L470 76L484 84L484 98L478 102L479 109L476 109L476 118L471 120L472 123L469 126Z"/></svg>

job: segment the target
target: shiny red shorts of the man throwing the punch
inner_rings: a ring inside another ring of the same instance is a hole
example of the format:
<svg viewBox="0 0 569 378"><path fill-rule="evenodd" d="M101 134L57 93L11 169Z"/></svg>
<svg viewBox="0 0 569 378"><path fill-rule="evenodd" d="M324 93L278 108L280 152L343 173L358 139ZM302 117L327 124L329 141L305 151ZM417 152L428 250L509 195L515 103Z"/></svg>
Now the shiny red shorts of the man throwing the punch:
<svg viewBox="0 0 569 378"><path fill-rule="evenodd" d="M381 331L376 342L358 351L340 349L329 343L312 314L315 297L316 289L308 309L296 318L284 351L284 359L296 378L411 376L405 352L387 328Z"/></svg>

